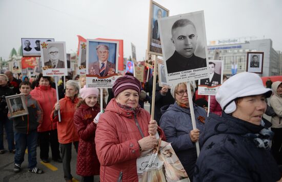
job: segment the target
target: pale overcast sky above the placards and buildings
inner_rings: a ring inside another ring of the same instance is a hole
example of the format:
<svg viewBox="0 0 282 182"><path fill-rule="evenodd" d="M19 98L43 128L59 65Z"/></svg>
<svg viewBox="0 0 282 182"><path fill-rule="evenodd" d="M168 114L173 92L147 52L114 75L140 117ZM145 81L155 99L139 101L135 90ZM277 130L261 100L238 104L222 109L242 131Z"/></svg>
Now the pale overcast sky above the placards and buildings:
<svg viewBox="0 0 282 182"><path fill-rule="evenodd" d="M280 0L155 0L170 16L204 10L207 40L250 37L271 38L282 51ZM67 53L76 52L78 39L124 40L124 57L136 46L137 60L147 49L149 0L0 0L0 57L8 59L21 38L66 41ZM4 41L3 41L4 40Z"/></svg>

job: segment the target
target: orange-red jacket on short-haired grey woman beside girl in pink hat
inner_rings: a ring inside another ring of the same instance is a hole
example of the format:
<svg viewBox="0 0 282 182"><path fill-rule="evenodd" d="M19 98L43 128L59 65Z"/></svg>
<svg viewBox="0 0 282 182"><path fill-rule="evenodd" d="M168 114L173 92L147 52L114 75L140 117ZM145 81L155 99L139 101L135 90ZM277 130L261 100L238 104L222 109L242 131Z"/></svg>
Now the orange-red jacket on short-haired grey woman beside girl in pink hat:
<svg viewBox="0 0 282 182"><path fill-rule="evenodd" d="M73 124L73 115L78 102L78 98L71 100L67 96L59 100L59 104L61 106L61 122L59 122L58 115L54 117L55 106L53 107L50 117L52 122L57 123L58 141L60 144L68 144L79 140L77 131Z"/></svg>

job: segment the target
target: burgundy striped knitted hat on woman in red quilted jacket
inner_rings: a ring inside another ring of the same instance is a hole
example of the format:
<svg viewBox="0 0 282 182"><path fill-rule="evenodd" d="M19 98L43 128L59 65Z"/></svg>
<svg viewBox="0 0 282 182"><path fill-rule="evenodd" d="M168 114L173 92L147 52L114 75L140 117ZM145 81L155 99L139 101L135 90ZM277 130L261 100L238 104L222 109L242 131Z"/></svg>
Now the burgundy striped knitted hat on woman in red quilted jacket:
<svg viewBox="0 0 282 182"><path fill-rule="evenodd" d="M119 77L113 85L114 97L123 92L125 89L136 90L136 92L140 95L141 83L137 78L130 75Z"/></svg>

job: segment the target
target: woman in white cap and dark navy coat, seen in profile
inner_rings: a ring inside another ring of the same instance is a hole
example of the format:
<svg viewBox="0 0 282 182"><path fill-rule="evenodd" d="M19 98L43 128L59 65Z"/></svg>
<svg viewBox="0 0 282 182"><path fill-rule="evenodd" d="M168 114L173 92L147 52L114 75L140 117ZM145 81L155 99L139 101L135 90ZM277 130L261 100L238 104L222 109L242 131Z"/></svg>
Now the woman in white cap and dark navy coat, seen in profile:
<svg viewBox="0 0 282 182"><path fill-rule="evenodd" d="M281 173L270 152L273 132L263 119L272 94L254 73L239 73L216 95L222 117L210 114L194 181L278 181Z"/></svg>

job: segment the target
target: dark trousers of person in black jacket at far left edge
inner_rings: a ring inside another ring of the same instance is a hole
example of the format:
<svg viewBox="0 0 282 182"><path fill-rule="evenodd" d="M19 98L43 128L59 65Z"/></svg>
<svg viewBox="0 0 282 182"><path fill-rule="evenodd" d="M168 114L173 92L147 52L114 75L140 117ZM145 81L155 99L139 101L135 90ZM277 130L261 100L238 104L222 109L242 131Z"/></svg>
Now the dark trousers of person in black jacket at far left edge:
<svg viewBox="0 0 282 182"><path fill-rule="evenodd" d="M13 132L13 121L9 120L7 117L1 116L0 118L0 150L4 150L4 127L7 134L8 139L8 149L9 151L12 151L15 149L14 146L14 132Z"/></svg>

